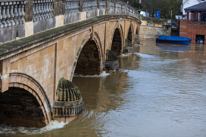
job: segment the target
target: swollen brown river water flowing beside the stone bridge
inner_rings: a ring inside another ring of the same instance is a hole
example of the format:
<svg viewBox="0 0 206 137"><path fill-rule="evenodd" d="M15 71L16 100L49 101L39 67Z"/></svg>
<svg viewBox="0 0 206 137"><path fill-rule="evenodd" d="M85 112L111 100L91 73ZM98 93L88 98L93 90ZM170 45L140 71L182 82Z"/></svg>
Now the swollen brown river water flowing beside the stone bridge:
<svg viewBox="0 0 206 137"><path fill-rule="evenodd" d="M141 44L117 72L73 79L85 104L74 121L0 136L206 137L206 46Z"/></svg>

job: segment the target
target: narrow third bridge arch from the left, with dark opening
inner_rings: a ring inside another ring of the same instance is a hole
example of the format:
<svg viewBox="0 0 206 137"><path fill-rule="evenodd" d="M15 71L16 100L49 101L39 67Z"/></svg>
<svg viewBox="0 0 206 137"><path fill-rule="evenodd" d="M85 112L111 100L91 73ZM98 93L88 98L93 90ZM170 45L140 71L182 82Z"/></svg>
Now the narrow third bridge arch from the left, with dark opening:
<svg viewBox="0 0 206 137"><path fill-rule="evenodd" d="M124 45L124 36L123 36L123 29L122 25L120 24L115 28L113 32L113 39L112 39L112 45L111 45L111 50L116 54L116 55L121 55L123 53L123 45Z"/></svg>

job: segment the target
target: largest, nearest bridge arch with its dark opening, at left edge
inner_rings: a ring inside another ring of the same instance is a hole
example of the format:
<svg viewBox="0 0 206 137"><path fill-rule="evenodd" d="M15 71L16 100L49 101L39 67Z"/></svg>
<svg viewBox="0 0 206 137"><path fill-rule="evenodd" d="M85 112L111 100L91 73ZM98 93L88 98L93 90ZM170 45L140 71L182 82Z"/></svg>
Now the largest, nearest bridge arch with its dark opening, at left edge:
<svg viewBox="0 0 206 137"><path fill-rule="evenodd" d="M6 116L7 123L44 127L50 122L52 110L49 99L43 87L31 76L23 73L10 73L9 89L0 95L1 98L4 96L11 97L5 104L10 109L7 110L4 105L0 105L0 115ZM18 106L16 102L21 105ZM24 110L20 111L22 114L13 114L18 117L12 115L13 112L18 112L20 109ZM37 113L35 113L36 111ZM3 113L7 113L7 115L3 115ZM0 119L0 121L3 120Z"/></svg>

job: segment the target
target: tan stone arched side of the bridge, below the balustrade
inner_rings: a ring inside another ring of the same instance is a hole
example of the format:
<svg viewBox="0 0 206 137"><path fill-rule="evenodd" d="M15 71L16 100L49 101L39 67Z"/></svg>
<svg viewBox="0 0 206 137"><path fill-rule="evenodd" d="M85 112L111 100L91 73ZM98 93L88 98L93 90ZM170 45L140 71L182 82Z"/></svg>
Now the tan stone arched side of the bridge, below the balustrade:
<svg viewBox="0 0 206 137"><path fill-rule="evenodd" d="M56 17L64 22L62 15ZM117 55L123 53L126 41L133 44L140 23L133 16L103 15L1 44L0 122L43 127L51 120L67 122L80 114L79 91L74 85L58 87L59 81L63 78L72 85L75 73L118 69Z"/></svg>

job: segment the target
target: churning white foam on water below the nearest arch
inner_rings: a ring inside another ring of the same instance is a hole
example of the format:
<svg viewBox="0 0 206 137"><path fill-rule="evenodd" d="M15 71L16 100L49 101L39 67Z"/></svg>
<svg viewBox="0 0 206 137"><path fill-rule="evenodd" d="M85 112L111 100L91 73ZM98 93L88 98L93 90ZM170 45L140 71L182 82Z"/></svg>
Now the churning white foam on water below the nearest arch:
<svg viewBox="0 0 206 137"><path fill-rule="evenodd" d="M0 125L0 134L7 134L7 135L13 135L13 134L42 134L44 132L48 132L54 129L60 129L63 128L66 124L64 122L58 122L56 120L51 121L47 126L43 128L35 128L35 127L15 127L15 126L8 126L5 124Z"/></svg>

